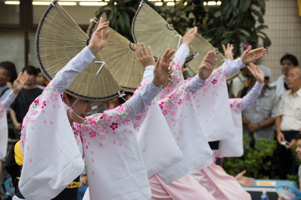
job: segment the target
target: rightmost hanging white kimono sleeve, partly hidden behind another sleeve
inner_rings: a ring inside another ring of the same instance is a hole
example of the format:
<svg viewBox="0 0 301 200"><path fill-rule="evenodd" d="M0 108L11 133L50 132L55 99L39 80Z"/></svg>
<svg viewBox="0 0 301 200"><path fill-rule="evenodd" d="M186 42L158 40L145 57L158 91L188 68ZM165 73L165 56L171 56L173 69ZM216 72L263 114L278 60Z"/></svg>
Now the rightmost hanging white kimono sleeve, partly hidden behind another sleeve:
<svg viewBox="0 0 301 200"><path fill-rule="evenodd" d="M232 118L235 127L235 136L231 139L219 141L219 151L217 156L222 157L240 157L244 154L243 146L243 124L242 124L242 99L229 99Z"/></svg>

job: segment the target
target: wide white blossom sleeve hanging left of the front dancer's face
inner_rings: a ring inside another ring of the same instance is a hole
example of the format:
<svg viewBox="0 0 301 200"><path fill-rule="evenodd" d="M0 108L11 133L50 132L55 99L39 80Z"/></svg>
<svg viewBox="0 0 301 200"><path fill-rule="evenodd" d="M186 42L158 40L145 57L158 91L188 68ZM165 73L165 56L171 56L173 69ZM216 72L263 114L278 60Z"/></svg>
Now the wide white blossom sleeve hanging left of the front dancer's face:
<svg viewBox="0 0 301 200"><path fill-rule="evenodd" d="M84 170L84 162L53 82L36 98L21 130L19 189L27 200L49 200Z"/></svg>

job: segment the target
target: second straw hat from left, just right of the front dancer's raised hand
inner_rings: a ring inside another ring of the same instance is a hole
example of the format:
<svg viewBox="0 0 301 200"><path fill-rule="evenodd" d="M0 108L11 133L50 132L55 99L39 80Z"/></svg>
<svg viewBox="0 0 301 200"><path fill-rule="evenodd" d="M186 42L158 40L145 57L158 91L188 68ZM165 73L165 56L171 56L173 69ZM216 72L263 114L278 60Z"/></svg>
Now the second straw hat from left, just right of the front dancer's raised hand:
<svg viewBox="0 0 301 200"><path fill-rule="evenodd" d="M92 37L98 26L97 18L94 17L90 21L87 30L88 37ZM144 73L144 67L134 49L135 44L110 27L105 28L104 33L107 30L110 30L110 37L100 54L121 88L127 92L135 92Z"/></svg>

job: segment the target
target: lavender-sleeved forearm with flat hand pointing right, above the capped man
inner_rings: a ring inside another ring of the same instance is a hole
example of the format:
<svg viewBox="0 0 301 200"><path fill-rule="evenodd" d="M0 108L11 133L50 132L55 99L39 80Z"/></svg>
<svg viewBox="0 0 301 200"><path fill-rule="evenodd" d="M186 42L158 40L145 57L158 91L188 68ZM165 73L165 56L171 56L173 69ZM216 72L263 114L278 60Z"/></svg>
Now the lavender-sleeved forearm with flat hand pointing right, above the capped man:
<svg viewBox="0 0 301 200"><path fill-rule="evenodd" d="M256 61L258 58L261 58L265 53L266 49L261 47L257 49L252 49L252 46L249 46L247 50L244 51L243 55L240 58L237 58L233 61L226 59L222 66L226 67L226 76L237 72L241 68L245 67L247 63Z"/></svg>

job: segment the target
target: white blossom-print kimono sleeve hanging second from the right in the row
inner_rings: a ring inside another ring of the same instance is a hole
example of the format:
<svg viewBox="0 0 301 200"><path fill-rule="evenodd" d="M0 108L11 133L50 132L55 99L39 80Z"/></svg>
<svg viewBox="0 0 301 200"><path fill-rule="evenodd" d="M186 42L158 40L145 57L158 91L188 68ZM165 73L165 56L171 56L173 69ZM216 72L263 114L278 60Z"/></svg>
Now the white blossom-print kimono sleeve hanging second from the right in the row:
<svg viewBox="0 0 301 200"><path fill-rule="evenodd" d="M225 73L224 66L213 70L193 97L208 142L234 137Z"/></svg>

